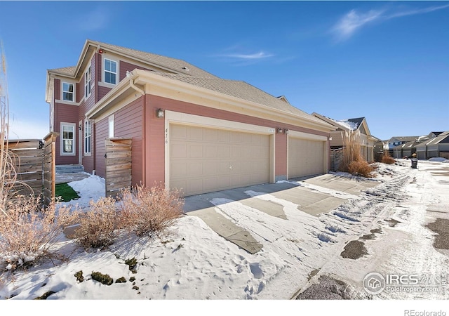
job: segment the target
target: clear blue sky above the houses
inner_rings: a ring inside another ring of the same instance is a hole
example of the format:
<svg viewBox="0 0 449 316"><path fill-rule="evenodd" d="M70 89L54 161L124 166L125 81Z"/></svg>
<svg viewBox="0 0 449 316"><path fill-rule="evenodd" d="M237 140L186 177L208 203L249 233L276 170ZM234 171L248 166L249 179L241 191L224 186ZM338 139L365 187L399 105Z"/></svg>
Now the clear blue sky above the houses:
<svg viewBox="0 0 449 316"><path fill-rule="evenodd" d="M449 1L0 1L10 138L48 133L46 70L86 39L186 60L371 133L449 130Z"/></svg>

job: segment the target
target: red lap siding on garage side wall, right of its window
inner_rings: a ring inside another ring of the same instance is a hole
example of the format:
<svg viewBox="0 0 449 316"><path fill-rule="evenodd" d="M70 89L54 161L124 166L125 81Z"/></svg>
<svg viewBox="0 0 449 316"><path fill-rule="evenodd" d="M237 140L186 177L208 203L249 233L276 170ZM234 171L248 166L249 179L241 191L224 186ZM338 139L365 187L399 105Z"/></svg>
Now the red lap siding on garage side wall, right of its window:
<svg viewBox="0 0 449 316"><path fill-rule="evenodd" d="M115 113L115 136L132 138L132 182L142 181L142 99L135 100Z"/></svg>

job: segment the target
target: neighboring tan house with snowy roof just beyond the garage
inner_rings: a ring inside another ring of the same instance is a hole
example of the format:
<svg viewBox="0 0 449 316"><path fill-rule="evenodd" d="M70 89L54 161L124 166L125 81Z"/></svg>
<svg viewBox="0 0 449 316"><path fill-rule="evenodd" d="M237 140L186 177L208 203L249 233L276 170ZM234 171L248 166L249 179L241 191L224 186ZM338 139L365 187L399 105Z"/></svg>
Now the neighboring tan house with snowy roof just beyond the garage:
<svg viewBox="0 0 449 316"><path fill-rule="evenodd" d="M374 143L380 141L379 138L374 137L368 129L368 124L365 117L358 117L356 119L342 119L337 121L330 119L318 113L312 113L314 117L317 117L332 126L335 126L335 131L330 132L330 148L339 149L344 146L345 133L348 131L358 131L360 142L361 154L363 158L368 162L374 161Z"/></svg>

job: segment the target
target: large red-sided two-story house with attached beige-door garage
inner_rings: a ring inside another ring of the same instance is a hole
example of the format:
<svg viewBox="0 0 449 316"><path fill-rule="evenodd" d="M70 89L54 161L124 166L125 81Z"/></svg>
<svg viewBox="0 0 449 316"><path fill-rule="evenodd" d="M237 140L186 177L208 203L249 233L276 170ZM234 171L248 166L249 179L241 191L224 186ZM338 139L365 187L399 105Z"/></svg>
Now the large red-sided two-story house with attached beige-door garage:
<svg viewBox="0 0 449 316"><path fill-rule="evenodd" d="M335 127L184 60L87 40L48 70L57 164L106 177L105 140L132 138L132 183L184 195L328 172Z"/></svg>

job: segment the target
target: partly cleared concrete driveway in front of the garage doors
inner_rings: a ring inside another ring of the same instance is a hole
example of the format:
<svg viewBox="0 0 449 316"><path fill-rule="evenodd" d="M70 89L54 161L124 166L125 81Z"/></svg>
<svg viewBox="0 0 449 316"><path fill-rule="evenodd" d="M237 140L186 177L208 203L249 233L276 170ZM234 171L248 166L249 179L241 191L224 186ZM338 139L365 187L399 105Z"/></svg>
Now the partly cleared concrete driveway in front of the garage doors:
<svg viewBox="0 0 449 316"><path fill-rule="evenodd" d="M212 199L239 201L243 205L270 216L288 220L281 204L251 197L246 192L269 193L279 199L297 204L298 211L319 216L321 213L336 209L348 199L357 198L363 190L378 184L380 183L375 180L359 180L328 173L322 176L297 178L186 197L184 210L189 216L201 218L212 230L229 242L233 242L250 254L255 254L262 249L262 244L257 242L250 232L217 211L216 206L211 202Z"/></svg>

